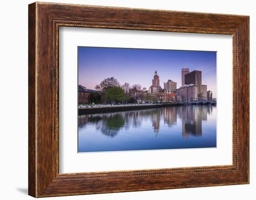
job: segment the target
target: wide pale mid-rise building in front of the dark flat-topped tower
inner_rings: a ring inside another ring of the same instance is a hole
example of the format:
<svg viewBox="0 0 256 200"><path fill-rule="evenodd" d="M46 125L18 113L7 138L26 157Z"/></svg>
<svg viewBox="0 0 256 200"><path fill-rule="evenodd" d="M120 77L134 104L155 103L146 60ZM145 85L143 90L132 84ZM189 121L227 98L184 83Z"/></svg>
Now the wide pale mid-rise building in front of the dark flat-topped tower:
<svg viewBox="0 0 256 200"><path fill-rule="evenodd" d="M176 96L177 98L181 98L182 101L197 101L198 87L194 84L181 86L179 89L177 89Z"/></svg>

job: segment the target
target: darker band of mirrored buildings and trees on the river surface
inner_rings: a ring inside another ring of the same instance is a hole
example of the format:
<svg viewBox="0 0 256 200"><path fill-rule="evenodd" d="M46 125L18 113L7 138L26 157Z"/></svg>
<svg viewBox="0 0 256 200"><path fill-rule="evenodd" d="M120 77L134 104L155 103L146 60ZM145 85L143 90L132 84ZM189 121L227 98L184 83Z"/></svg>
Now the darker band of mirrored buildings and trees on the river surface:
<svg viewBox="0 0 256 200"><path fill-rule="evenodd" d="M207 121L207 115L212 113L212 105L184 105L148 110L133 110L103 114L78 116L78 126L94 124L96 129L110 137L115 137L121 129L139 128L143 119L151 119L155 137L159 133L160 121L164 125L177 125L177 118L182 122L182 137L202 135L202 121Z"/></svg>

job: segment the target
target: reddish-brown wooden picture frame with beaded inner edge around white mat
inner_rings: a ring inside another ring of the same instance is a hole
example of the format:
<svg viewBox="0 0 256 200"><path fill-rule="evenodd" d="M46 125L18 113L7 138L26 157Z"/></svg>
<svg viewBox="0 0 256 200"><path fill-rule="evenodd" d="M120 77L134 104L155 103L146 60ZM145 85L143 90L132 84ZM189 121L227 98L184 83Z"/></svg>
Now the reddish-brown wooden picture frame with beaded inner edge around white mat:
<svg viewBox="0 0 256 200"><path fill-rule="evenodd" d="M29 185L34 197L249 183L249 16L33 3L28 12ZM233 164L59 174L59 27L233 36Z"/></svg>

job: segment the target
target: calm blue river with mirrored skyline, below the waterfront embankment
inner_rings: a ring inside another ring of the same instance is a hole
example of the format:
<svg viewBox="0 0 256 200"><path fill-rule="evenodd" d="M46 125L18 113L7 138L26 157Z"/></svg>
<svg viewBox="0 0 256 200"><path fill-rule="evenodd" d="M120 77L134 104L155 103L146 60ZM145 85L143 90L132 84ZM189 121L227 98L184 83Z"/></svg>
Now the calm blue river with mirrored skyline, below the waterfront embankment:
<svg viewBox="0 0 256 200"><path fill-rule="evenodd" d="M78 116L78 152L216 147L216 106Z"/></svg>

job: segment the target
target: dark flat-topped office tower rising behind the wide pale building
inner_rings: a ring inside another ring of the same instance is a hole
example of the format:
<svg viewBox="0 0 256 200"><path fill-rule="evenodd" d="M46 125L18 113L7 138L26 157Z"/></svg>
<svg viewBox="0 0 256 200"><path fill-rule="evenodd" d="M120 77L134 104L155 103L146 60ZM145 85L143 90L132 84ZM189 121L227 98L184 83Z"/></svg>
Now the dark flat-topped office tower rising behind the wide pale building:
<svg viewBox="0 0 256 200"><path fill-rule="evenodd" d="M197 86L197 100L202 100L202 71L191 71L185 74L185 84L194 84Z"/></svg>

